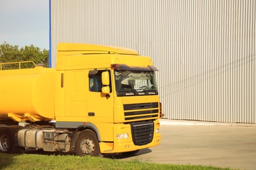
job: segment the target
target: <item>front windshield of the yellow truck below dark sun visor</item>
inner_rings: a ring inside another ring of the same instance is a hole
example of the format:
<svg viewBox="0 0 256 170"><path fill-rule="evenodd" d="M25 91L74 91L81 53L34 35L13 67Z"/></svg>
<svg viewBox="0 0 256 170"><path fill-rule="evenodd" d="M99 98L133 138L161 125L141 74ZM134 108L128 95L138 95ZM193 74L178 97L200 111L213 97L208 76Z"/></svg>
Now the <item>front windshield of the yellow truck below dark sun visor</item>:
<svg viewBox="0 0 256 170"><path fill-rule="evenodd" d="M115 71L117 96L156 95L154 71Z"/></svg>

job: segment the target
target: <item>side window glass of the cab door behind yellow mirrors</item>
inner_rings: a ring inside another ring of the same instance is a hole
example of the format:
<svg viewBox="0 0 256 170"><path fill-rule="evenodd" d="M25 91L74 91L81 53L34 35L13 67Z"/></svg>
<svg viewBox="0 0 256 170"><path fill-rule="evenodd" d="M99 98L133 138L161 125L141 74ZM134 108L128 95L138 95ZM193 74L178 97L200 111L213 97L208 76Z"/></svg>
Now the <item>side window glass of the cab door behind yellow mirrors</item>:
<svg viewBox="0 0 256 170"><path fill-rule="evenodd" d="M101 92L101 89L102 89L101 74L103 71L105 71L105 70L98 70L97 73L93 74L93 75L89 74L89 90L90 90L90 92ZM112 92L111 79L110 79L110 92Z"/></svg>

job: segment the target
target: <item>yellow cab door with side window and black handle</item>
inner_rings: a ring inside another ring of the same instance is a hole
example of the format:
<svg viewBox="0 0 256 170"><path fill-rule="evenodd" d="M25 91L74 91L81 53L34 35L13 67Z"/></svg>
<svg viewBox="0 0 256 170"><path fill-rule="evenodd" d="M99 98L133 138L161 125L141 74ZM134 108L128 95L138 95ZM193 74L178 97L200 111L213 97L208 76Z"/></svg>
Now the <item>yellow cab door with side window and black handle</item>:
<svg viewBox="0 0 256 170"><path fill-rule="evenodd" d="M106 86L102 84L102 73L105 71L105 69L94 69L88 72L87 120L98 128L102 141L113 141L114 95L110 70L108 70L110 93L102 93L102 88Z"/></svg>

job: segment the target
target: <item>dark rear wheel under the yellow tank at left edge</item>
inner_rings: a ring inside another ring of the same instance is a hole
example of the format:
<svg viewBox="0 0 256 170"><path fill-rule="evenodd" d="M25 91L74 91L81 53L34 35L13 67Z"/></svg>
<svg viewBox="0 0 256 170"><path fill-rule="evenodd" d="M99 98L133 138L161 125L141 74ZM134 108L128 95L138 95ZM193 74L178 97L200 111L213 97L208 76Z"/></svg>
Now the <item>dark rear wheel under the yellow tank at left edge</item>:
<svg viewBox="0 0 256 170"><path fill-rule="evenodd" d="M0 130L0 153L13 153L15 148L10 131Z"/></svg>

